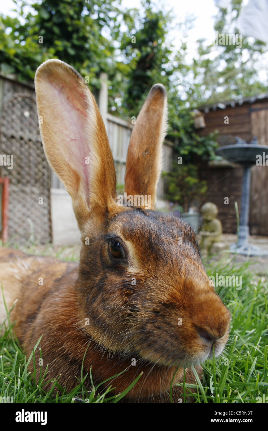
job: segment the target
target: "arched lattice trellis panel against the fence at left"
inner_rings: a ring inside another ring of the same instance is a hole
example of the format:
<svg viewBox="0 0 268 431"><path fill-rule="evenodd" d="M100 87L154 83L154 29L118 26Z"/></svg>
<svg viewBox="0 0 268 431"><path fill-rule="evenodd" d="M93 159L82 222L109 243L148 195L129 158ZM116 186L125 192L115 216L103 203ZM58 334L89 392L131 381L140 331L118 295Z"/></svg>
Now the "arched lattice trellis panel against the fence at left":
<svg viewBox="0 0 268 431"><path fill-rule="evenodd" d="M10 181L9 241L51 242L50 169L39 133L36 102L27 94L15 94L3 106L0 154L13 155L12 169L1 166L1 176Z"/></svg>

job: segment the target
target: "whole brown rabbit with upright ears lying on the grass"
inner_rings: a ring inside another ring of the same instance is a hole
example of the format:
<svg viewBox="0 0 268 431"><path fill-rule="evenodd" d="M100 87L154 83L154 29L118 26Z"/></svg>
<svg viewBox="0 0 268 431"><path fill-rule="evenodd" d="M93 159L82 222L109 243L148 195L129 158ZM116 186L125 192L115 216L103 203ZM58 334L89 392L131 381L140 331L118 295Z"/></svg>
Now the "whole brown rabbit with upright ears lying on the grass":
<svg viewBox="0 0 268 431"><path fill-rule="evenodd" d="M161 84L151 88L127 154L125 191L151 196L151 209L145 209L117 203L105 126L83 78L52 59L37 69L35 87L44 151L71 194L82 249L79 264L1 249L7 306L18 299L10 314L15 334L28 356L43 334L47 387L59 375L63 387L74 387L87 349L83 375L92 366L95 383L126 370L114 378L114 394L143 372L123 399L128 402L168 402L180 367L176 402L183 368L186 382L194 383L187 367L197 365L201 375L198 364L212 356L213 346L216 356L224 349L230 313L211 287L194 232L154 211L166 91ZM5 319L3 305L0 315ZM89 378L85 384L90 389Z"/></svg>

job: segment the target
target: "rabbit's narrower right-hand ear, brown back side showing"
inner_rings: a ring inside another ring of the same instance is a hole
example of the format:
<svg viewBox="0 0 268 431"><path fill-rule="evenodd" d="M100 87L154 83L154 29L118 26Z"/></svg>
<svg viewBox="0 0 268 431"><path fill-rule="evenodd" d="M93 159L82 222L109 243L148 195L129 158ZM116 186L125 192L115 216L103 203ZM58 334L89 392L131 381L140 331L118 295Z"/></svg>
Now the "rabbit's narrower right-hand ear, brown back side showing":
<svg viewBox="0 0 268 431"><path fill-rule="evenodd" d="M163 85L155 84L136 119L126 158L125 192L151 196L151 209L156 202L167 128L166 99Z"/></svg>

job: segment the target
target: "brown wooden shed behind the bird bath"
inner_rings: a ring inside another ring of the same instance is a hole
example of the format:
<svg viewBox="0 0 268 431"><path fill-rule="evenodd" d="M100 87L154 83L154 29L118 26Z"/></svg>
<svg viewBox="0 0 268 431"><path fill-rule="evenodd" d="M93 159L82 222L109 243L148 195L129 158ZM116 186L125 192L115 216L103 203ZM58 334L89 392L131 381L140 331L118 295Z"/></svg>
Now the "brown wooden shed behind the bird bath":
<svg viewBox="0 0 268 431"><path fill-rule="evenodd" d="M219 146L234 144L235 137L247 143L257 137L260 145L268 145L268 93L205 106L200 111L205 125L198 133L204 136L218 131ZM234 203L240 208L242 168L227 161L208 162L200 165L199 175L208 184L204 202L218 206L224 233L236 233ZM268 235L268 166L251 169L249 226L250 234Z"/></svg>

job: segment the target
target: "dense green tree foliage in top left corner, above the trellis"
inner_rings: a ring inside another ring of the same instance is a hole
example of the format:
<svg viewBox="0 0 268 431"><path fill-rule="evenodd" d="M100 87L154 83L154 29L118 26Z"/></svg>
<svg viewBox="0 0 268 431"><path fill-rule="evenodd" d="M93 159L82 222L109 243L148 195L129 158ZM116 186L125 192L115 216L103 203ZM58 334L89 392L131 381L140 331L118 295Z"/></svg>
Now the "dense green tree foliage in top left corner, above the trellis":
<svg viewBox="0 0 268 431"><path fill-rule="evenodd" d="M114 68L111 39L117 37L120 13L114 0L43 0L32 4L34 13L27 14L28 1L13 1L22 19L0 17L2 73L33 79L41 62L59 58L89 76L95 86L99 72Z"/></svg>

